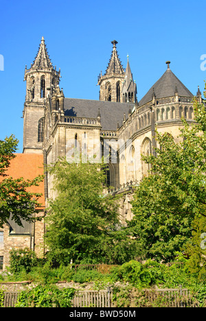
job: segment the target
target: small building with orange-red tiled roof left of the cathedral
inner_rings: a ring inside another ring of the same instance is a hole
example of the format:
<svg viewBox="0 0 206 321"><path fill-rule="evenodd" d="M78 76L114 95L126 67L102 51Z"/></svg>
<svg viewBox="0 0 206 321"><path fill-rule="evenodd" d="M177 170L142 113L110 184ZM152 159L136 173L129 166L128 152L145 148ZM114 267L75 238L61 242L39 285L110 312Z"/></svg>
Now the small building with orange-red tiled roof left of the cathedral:
<svg viewBox="0 0 206 321"><path fill-rule="evenodd" d="M14 179L23 177L24 180L32 180L43 175L43 154L15 154L15 158L10 161L10 167L5 174ZM28 188L28 191L42 194L38 199L41 207L38 208L37 215L43 217L45 210L44 181L40 182L38 186ZM5 267L9 265L9 252L12 248L30 248L38 256L44 252L44 219L34 223L22 221L22 224L23 227L18 226L10 219L8 224L0 228L0 270L5 270Z"/></svg>

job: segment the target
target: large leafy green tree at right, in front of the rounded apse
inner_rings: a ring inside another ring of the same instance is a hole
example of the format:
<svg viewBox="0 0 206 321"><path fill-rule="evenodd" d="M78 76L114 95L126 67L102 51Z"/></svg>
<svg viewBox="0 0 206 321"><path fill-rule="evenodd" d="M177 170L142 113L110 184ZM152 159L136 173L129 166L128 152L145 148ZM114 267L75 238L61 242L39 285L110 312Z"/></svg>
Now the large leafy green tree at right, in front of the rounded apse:
<svg viewBox="0 0 206 321"><path fill-rule="evenodd" d="M135 192L130 222L146 256L174 259L192 236L194 217L205 217L206 108L194 101L196 123L182 119L180 142L156 131L156 156L142 156L152 171ZM205 231L206 232L206 231Z"/></svg>

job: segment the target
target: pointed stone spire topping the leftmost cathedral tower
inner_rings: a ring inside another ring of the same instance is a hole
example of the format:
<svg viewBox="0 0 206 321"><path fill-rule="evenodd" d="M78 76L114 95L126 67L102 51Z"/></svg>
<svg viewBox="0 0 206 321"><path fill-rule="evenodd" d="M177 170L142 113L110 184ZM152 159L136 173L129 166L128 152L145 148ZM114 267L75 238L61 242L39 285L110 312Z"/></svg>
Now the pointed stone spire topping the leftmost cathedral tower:
<svg viewBox="0 0 206 321"><path fill-rule="evenodd" d="M49 59L49 55L47 53L47 48L45 45L45 38L41 38L41 44L38 49L38 53L36 58L31 66L33 69L54 69L52 66L52 62Z"/></svg>

